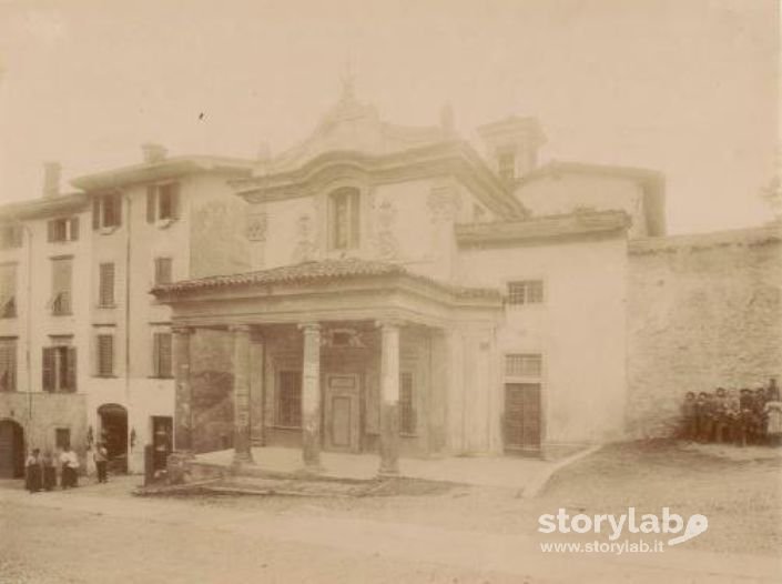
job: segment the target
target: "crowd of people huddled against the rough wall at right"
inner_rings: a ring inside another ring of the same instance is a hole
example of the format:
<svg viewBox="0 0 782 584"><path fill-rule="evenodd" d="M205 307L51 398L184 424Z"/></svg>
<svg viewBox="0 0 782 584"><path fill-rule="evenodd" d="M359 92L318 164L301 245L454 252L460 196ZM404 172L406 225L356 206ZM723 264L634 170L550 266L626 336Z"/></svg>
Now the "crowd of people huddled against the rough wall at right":
<svg viewBox="0 0 782 584"><path fill-rule="evenodd" d="M782 402L775 379L755 390L687 392L681 413L684 440L739 446L782 444Z"/></svg>

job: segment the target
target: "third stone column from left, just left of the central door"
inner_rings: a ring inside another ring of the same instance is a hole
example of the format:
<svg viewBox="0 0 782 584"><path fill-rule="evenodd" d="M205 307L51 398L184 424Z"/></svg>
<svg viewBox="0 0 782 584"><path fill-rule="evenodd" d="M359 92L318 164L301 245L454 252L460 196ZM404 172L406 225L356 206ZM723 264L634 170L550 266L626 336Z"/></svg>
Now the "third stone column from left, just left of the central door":
<svg viewBox="0 0 782 584"><path fill-rule="evenodd" d="M302 459L304 470L319 472L321 467L321 325L305 323L298 326L304 334L304 366L302 370Z"/></svg>

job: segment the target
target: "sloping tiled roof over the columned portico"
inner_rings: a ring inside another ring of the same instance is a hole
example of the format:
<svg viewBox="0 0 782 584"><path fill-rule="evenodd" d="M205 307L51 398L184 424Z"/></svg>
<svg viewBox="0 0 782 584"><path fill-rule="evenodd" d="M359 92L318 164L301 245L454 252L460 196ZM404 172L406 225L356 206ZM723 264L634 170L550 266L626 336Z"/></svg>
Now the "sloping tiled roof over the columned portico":
<svg viewBox="0 0 782 584"><path fill-rule="evenodd" d="M197 280L184 280L171 284L160 285L152 290L153 293L165 294L190 290L206 290L215 288L230 288L243 285L271 285L271 284L306 284L324 280L345 280L365 276L398 275L444 290L457 298L499 298L499 292L494 289L453 286L430 278L413 274L402 265L370 260L323 260L297 263L261 270L242 272L228 275L215 275Z"/></svg>

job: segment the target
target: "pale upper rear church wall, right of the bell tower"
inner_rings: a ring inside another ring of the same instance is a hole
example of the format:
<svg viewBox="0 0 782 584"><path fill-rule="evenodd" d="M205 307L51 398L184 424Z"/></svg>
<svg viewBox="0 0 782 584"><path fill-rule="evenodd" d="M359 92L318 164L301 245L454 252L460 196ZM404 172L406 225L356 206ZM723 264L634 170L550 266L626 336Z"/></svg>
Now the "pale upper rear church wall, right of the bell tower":
<svg viewBox="0 0 782 584"><path fill-rule="evenodd" d="M624 178L563 174L521 183L516 198L534 215L570 213L579 208L621 210L630 215L630 236L647 234L643 191L638 182Z"/></svg>

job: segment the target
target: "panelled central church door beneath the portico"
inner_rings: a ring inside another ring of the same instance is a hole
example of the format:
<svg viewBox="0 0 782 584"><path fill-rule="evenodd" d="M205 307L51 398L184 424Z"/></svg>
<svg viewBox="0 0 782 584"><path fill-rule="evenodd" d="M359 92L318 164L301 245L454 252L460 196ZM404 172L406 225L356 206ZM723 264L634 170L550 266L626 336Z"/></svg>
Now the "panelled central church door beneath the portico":
<svg viewBox="0 0 782 584"><path fill-rule="evenodd" d="M325 447L358 452L359 385L356 374L326 375Z"/></svg>

